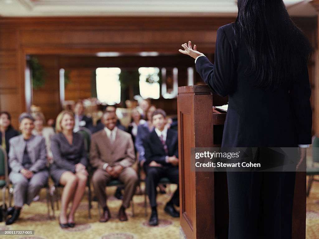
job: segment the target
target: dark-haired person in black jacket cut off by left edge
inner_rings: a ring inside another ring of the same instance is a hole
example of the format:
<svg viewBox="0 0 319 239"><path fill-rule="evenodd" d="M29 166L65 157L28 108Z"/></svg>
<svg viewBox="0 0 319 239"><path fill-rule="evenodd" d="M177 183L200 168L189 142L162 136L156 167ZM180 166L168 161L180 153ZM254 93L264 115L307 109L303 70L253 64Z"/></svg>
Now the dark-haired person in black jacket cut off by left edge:
<svg viewBox="0 0 319 239"><path fill-rule="evenodd" d="M3 111L0 113L0 145L9 153L9 139L18 136L19 132L11 126L11 116L9 112Z"/></svg>

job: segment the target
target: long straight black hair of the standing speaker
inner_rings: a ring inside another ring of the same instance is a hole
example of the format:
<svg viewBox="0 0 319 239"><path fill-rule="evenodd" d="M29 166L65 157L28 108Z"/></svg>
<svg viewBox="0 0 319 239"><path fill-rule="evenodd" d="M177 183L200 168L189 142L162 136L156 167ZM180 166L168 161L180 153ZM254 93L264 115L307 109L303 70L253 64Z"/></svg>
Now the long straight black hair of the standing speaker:
<svg viewBox="0 0 319 239"><path fill-rule="evenodd" d="M309 59L311 46L293 23L282 0L238 0L235 44L243 42L251 58L252 84L277 89L296 79Z"/></svg>

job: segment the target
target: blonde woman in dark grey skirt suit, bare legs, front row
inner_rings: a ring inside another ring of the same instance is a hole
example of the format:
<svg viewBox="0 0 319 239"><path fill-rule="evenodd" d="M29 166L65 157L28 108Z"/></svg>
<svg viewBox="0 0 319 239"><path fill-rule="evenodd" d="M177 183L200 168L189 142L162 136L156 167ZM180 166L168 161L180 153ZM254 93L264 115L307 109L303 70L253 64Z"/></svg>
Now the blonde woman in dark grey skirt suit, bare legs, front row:
<svg viewBox="0 0 319 239"><path fill-rule="evenodd" d="M63 110L56 117L57 134L51 138L53 164L51 177L56 185L63 185L61 196L61 228L74 227L74 214L85 192L88 173L84 138L73 132L74 116L71 111ZM72 201L69 214L68 205ZM67 216L68 215L68 216Z"/></svg>

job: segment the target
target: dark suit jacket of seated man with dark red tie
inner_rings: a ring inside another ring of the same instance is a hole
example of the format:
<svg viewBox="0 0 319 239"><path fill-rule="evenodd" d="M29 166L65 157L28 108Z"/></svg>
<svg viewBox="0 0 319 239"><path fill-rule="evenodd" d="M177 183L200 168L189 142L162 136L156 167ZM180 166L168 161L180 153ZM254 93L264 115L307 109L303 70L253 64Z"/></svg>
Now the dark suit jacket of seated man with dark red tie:
<svg viewBox="0 0 319 239"><path fill-rule="evenodd" d="M166 145L168 154L165 153L164 146L156 134L155 129L143 138L143 145L146 159L144 163L145 166L150 164L152 161L163 166L169 166L171 164L168 164L165 161L167 155L175 155L176 158L178 158L178 133L175 130L167 130Z"/></svg>

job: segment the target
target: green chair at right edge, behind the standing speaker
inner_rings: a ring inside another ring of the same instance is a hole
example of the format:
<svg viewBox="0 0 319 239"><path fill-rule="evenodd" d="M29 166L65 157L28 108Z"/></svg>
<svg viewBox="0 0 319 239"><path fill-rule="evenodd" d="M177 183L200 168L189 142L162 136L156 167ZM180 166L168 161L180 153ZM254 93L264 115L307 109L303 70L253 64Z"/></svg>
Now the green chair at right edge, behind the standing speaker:
<svg viewBox="0 0 319 239"><path fill-rule="evenodd" d="M311 168L307 167L307 176L309 176L308 186L307 186L307 197L309 196L313 181L319 182L319 179L315 179L315 175L319 175L319 137L318 136L315 136L312 142L312 158L313 158L313 162L312 162ZM315 165L315 163L317 165Z"/></svg>

